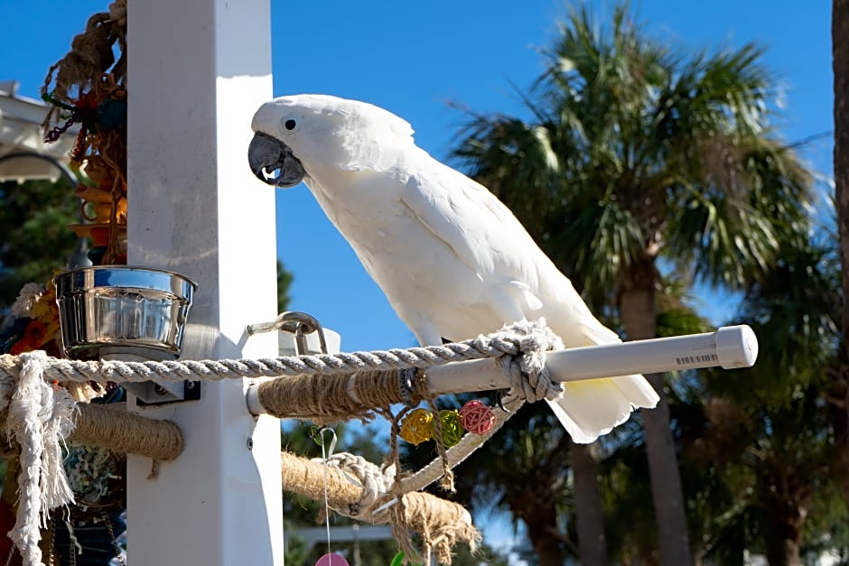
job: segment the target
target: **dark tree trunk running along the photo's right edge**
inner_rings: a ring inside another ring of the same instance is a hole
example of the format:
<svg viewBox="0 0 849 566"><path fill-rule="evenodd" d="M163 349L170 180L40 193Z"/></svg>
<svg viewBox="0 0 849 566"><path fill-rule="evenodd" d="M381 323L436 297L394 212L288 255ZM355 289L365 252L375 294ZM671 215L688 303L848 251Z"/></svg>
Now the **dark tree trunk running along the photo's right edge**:
<svg viewBox="0 0 849 566"><path fill-rule="evenodd" d="M849 0L834 0L831 13L832 69L835 73L835 207L837 209L837 237L840 249L841 277L844 304L842 311L843 340L838 352L838 363L842 365L838 375L844 376L849 365ZM844 407L849 411L849 407ZM849 413L847 413L849 419ZM849 435L838 450L849 459ZM849 475L849 470L843 470ZM849 484L844 489L846 504L849 505Z"/></svg>

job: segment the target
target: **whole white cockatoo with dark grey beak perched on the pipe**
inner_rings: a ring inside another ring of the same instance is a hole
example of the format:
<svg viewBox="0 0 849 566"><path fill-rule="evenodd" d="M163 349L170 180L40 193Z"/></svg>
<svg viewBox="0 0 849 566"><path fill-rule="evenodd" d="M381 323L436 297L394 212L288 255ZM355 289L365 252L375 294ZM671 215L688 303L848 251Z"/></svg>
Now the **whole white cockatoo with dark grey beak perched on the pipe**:
<svg viewBox="0 0 849 566"><path fill-rule="evenodd" d="M416 147L387 110L323 95L257 110L248 162L276 187L303 181L423 345L545 318L566 348L620 338L489 190ZM654 407L643 376L564 384L552 404L574 441L592 442Z"/></svg>

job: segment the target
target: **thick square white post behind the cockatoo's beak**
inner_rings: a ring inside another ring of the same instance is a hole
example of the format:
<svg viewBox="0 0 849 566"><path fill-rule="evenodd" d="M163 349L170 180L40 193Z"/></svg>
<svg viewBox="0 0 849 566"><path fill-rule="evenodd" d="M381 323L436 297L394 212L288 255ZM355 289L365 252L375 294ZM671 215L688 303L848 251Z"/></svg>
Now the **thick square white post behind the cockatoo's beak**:
<svg viewBox="0 0 849 566"><path fill-rule="evenodd" d="M272 96L268 0L130 3L129 263L200 285L183 358L274 357L274 190L247 166L250 119ZM170 418L185 451L148 479L127 470L131 566L283 563L279 422L247 412L246 380L201 401L132 410Z"/></svg>

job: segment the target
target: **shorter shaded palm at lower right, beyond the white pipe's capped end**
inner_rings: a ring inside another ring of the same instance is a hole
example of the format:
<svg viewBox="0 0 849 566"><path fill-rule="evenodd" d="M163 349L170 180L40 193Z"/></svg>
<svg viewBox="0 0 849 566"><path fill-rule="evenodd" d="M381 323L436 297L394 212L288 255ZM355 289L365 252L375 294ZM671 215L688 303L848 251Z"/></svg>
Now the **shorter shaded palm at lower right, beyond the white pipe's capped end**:
<svg viewBox="0 0 849 566"><path fill-rule="evenodd" d="M762 549L770 566L798 565L805 545L845 543L829 534L844 524L847 509L835 506L843 501L844 470L835 466L839 438L823 410L839 341L836 238L818 242L810 234L829 230L800 228L782 236L779 260L743 302L741 319L762 345L758 365L735 384L727 376L705 381L704 431L691 444L695 450L683 450L693 465L714 467L726 486L736 485L717 521L735 524L745 546ZM818 529L809 527L811 519ZM717 558L731 561L727 553Z"/></svg>

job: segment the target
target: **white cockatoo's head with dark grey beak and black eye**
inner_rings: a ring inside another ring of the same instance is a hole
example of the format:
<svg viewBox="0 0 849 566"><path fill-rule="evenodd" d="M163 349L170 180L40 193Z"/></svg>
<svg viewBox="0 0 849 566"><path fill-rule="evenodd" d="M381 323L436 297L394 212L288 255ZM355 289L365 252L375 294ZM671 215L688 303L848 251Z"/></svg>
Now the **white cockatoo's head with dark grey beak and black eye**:
<svg viewBox="0 0 849 566"><path fill-rule="evenodd" d="M326 95L279 97L259 107L247 150L251 171L293 187L328 167L385 171L413 144L413 128L383 108Z"/></svg>

